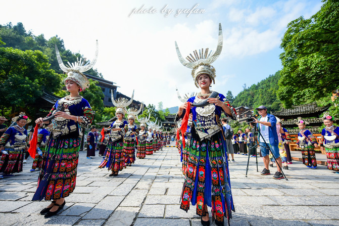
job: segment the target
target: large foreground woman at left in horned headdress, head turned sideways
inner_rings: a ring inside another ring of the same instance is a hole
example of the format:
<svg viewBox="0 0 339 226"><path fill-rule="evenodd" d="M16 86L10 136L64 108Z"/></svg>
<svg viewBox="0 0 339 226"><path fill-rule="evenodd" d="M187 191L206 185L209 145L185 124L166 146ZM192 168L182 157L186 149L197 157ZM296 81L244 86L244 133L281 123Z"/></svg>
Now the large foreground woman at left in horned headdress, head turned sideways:
<svg viewBox="0 0 339 226"><path fill-rule="evenodd" d="M93 120L93 111L79 92L88 87L89 82L83 72L91 69L98 57L98 41L94 60L89 64L80 59L72 68L66 67L56 47L57 59L61 69L67 73L65 86L70 95L60 99L51 109L50 120L38 118L36 124L51 123L51 134L47 141L38 185L33 200L53 200L41 210L41 214L50 217L57 214L65 205L65 198L75 188L76 174L81 145L81 127L88 127ZM33 135L34 139L34 135ZM32 140L33 140L32 139Z"/></svg>

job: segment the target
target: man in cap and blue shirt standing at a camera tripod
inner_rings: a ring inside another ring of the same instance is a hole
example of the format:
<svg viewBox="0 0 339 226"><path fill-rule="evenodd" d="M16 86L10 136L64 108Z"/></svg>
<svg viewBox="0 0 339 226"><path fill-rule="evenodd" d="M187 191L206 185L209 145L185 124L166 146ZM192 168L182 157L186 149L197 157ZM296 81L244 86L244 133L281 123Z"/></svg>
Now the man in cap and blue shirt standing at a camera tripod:
<svg viewBox="0 0 339 226"><path fill-rule="evenodd" d="M258 119L253 118L254 122L258 124L258 129L260 133L262 134L262 137L266 141L267 145L269 145L269 148L271 149L272 154L276 158L276 162L281 166L281 158L279 155L279 148L278 148L279 140L278 140L278 134L277 134L276 126L275 126L276 118L274 115L267 114L267 108L263 105L256 108L256 110L258 110L258 113L260 116ZM263 156L264 164L265 164L265 168L261 172L261 175L269 175L271 174L268 168L268 164L270 161L269 159L270 153L269 153L268 147L266 148L266 144L263 141L262 137L260 135L258 136L260 152L261 152L261 155ZM274 179L284 178L281 173L281 169L278 167L278 165L277 165L277 171L275 172L273 178Z"/></svg>

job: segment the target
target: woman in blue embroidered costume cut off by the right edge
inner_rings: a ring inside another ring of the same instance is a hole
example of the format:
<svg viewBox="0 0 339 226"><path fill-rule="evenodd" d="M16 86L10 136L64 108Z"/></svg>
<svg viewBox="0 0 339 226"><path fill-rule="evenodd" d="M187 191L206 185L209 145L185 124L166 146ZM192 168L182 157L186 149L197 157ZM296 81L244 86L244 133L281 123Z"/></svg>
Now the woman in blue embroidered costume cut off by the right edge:
<svg viewBox="0 0 339 226"><path fill-rule="evenodd" d="M333 117L324 114L325 128L321 131L321 150L326 151L327 168L339 174L339 127L333 125Z"/></svg>

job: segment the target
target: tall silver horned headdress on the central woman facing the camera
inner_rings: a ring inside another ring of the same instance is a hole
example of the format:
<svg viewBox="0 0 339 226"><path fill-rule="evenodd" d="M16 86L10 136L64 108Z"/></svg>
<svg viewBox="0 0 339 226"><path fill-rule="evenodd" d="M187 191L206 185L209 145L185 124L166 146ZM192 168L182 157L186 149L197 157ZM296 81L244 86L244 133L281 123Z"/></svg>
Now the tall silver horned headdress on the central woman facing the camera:
<svg viewBox="0 0 339 226"><path fill-rule="evenodd" d="M186 60L183 59L181 56L178 44L175 41L175 49L176 53L178 55L180 63L188 68L192 69L191 75L193 77L193 80L195 82L195 85L199 88L197 78L201 74L208 74L211 79L213 80L213 83L215 83L214 79L216 77L215 75L215 68L211 65L221 54L222 50L222 29L221 29L221 23L219 23L219 37L218 37L218 45L217 49L214 51L210 51L209 48L201 49L199 50L199 53L197 50L193 51L193 55L189 54L189 56L186 57Z"/></svg>

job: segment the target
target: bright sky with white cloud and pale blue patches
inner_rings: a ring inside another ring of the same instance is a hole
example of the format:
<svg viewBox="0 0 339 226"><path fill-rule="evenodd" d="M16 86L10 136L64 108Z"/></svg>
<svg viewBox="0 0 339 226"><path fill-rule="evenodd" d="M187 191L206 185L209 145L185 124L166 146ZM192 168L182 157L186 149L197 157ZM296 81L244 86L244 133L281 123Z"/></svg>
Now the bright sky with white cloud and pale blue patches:
<svg viewBox="0 0 339 226"><path fill-rule="evenodd" d="M220 22L224 46L213 63L212 89L236 96L244 83L251 86L281 69L279 46L287 24L309 18L321 5L320 0L12 0L2 1L0 23L22 22L46 39L58 35L66 49L87 59L93 58L98 39L94 68L120 86L119 92L130 96L135 89L135 100L156 106L162 101L166 108L181 103L175 86L182 95L199 91L177 58L175 40L183 57L196 49L215 50ZM192 8L195 13L184 13Z"/></svg>

